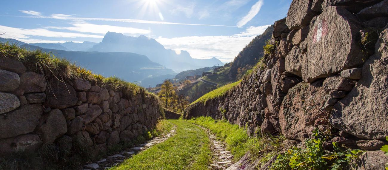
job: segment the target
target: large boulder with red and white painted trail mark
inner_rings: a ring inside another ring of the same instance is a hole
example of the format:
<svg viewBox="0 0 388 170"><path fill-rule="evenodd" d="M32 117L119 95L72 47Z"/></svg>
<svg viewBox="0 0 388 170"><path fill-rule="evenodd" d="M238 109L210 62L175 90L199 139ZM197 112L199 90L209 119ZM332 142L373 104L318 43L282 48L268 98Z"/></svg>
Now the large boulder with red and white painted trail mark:
<svg viewBox="0 0 388 170"><path fill-rule="evenodd" d="M303 80L314 82L362 64L367 56L358 45L360 29L357 18L350 12L338 6L327 7L308 33Z"/></svg>

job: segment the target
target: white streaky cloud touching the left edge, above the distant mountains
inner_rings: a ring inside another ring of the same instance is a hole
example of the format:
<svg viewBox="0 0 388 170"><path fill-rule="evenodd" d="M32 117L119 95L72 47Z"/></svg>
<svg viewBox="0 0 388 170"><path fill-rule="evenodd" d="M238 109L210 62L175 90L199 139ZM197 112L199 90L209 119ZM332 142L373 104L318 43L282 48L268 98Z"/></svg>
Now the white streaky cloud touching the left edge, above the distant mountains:
<svg viewBox="0 0 388 170"><path fill-rule="evenodd" d="M14 28L0 25L0 32L6 32L2 35L3 38L15 38L15 39L31 39L31 36L43 36L43 37L54 37L54 38L104 38L103 35L90 35L82 33L68 33L68 32L57 32L50 31L43 28L35 29L24 29Z"/></svg>

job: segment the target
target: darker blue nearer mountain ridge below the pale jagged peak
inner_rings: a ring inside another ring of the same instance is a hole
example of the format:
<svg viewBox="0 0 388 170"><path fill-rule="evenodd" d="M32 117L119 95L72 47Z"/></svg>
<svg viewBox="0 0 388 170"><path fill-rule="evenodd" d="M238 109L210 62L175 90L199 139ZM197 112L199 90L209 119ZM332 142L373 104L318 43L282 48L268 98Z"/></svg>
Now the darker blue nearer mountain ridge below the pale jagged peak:
<svg viewBox="0 0 388 170"><path fill-rule="evenodd" d="M172 69L168 69L159 63L149 60L147 56L135 53L82 52L44 49L11 38L0 38L0 42L15 43L18 46L29 50L51 52L57 57L76 62L77 64L80 64L80 66L91 69L95 73L104 76L117 76L128 82L140 83L141 81L146 80L147 83L140 83L140 85L144 87L148 87L148 83L151 83L152 85L159 83L159 79L152 80L150 77L171 77L176 74Z"/></svg>

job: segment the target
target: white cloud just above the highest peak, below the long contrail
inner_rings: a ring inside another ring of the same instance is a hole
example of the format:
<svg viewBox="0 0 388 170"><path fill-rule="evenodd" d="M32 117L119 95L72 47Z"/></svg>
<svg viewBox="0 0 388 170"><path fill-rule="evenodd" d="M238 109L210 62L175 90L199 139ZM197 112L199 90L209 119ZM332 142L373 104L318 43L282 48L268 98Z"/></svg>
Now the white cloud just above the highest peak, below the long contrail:
<svg viewBox="0 0 388 170"><path fill-rule="evenodd" d="M50 26L50 29L66 29L69 31L78 31L82 33L94 33L94 34L106 34L108 31L118 32L123 34L138 35L151 33L148 29L139 29L132 27L111 26L111 25L97 25L85 22L72 23L70 27L54 27Z"/></svg>

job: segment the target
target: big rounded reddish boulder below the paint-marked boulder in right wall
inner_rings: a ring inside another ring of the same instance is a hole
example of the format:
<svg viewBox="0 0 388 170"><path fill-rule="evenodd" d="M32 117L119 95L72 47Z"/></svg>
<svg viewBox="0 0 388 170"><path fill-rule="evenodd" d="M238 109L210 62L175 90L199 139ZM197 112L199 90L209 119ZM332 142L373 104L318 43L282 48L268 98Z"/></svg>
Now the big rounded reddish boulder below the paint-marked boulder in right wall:
<svg viewBox="0 0 388 170"><path fill-rule="evenodd" d="M321 82L312 84L301 82L290 88L279 111L282 134L287 139L303 141L308 137L308 126L325 118L329 113L322 110L326 92Z"/></svg>

